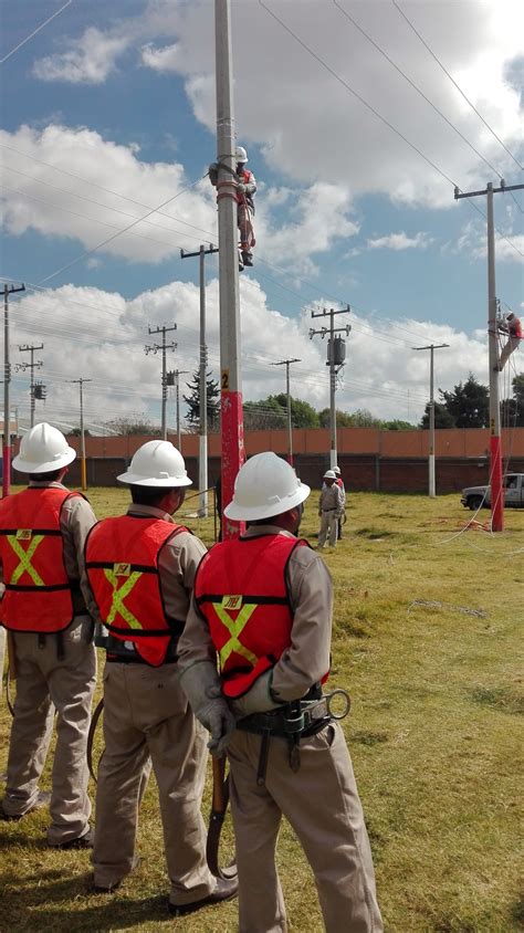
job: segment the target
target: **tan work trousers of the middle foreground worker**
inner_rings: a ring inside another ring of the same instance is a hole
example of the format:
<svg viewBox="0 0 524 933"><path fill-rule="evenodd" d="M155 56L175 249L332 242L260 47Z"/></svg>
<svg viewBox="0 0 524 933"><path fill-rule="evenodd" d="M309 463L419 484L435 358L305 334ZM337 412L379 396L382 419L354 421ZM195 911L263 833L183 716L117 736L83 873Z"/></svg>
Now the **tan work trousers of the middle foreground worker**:
<svg viewBox="0 0 524 933"><path fill-rule="evenodd" d="M177 664L106 663L104 738L96 787L95 884L113 887L136 864L140 787L150 755L171 882L169 900L187 904L207 898L216 885L206 862L200 813L207 732L181 691Z"/></svg>

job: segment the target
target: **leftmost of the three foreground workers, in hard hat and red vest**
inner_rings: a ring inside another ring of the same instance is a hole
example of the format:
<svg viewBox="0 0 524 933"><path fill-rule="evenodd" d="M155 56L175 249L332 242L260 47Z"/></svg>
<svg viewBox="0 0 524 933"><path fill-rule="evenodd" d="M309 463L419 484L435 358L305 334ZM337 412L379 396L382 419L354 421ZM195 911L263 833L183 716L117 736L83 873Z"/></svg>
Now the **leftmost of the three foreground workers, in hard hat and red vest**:
<svg viewBox="0 0 524 933"><path fill-rule="evenodd" d="M39 779L56 711L48 845L62 849L93 845L85 753L96 657L82 555L96 518L62 483L75 457L56 428L31 428L13 460L29 486L0 502L0 621L17 677L1 816L20 819L46 803Z"/></svg>

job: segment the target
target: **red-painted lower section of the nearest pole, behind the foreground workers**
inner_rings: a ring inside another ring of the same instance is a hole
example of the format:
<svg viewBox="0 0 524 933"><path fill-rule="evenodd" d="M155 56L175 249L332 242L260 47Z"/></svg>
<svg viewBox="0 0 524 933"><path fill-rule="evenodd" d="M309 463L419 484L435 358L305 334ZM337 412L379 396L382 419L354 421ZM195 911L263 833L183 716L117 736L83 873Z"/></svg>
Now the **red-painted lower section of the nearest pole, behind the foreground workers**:
<svg viewBox="0 0 524 933"><path fill-rule="evenodd" d="M223 510L233 497L234 480L245 461L242 392L222 389L222 538L238 537L245 528L243 522L230 522Z"/></svg>

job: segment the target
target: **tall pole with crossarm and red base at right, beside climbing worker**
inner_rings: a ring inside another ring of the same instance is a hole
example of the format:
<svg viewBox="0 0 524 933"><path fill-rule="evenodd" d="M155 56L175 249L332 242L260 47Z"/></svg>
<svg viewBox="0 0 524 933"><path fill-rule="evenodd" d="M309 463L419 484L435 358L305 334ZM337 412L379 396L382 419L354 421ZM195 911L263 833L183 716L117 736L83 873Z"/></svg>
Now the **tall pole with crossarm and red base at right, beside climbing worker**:
<svg viewBox="0 0 524 933"><path fill-rule="evenodd" d="M496 332L495 293L495 228L493 223L493 195L504 191L520 191L524 185L505 185L493 188L490 181L483 191L467 193L454 189L455 201L460 198L476 198L486 195L488 201L488 338L490 366L490 483L491 483L491 530L504 531L504 491L502 488L501 407L499 402L499 349Z"/></svg>

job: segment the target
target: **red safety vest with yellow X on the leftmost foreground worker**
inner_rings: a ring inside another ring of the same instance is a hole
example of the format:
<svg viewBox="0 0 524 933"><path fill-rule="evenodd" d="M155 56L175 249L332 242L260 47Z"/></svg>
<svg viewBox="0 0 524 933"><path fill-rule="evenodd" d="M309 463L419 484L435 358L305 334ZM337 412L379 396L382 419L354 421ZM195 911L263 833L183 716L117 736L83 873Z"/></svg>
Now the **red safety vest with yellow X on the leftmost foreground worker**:
<svg viewBox="0 0 524 933"><path fill-rule="evenodd" d="M0 560L6 593L0 621L12 631L63 631L74 618L60 520L81 493L29 486L0 502Z"/></svg>

